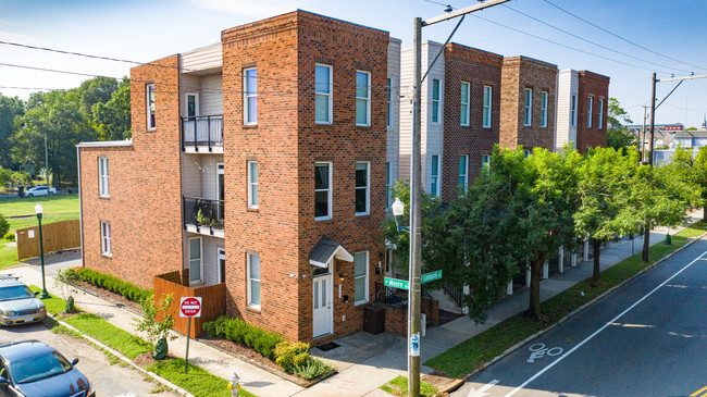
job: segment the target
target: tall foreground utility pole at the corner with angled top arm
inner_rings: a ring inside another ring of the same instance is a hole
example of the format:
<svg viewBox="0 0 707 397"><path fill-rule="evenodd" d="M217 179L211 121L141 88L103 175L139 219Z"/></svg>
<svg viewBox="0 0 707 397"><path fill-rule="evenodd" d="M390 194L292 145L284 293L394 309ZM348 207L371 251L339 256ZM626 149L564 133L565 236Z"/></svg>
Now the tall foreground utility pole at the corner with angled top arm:
<svg viewBox="0 0 707 397"><path fill-rule="evenodd" d="M446 14L422 21L420 17L414 18L412 34L413 45L413 78L414 94L412 98L412 161L410 162L410 289L408 299L408 395L412 397L420 396L420 298L421 298L421 278L422 273L422 28L443 21L448 21L458 16L467 15L474 11L498 5L510 0L487 0L483 3L466 7L460 10L450 11ZM459 24L461 21L459 22ZM459 27L459 25L457 25ZM442 47L442 51L451 36L457 32L455 28L451 35ZM427 72L436 62L437 57L429 66ZM426 73L425 73L426 76Z"/></svg>

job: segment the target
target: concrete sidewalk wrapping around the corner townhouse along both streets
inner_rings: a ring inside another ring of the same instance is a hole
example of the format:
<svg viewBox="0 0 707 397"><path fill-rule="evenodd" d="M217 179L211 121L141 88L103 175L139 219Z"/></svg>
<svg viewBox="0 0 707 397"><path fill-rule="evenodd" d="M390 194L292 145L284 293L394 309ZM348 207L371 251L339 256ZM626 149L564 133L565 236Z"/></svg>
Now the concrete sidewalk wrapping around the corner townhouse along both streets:
<svg viewBox="0 0 707 397"><path fill-rule="evenodd" d="M702 210L696 211L692 214L691 222L702 220ZM670 233L674 234L680 229L671 229ZM650 244L655 245L662 241L667 232L667 228L653 232L650 234ZM640 252L643 239L637 238L634 244L635 252ZM631 255L630 240L610 244L601 251L601 270ZM61 268L80 265L80 260L72 259L48 266L54 265ZM541 283L541 299L546 300L590 277L592 266L592 262L580 262L575 268L566 268L563 273L550 275L550 278ZM18 276L26 284L41 286L41 273L37 265L13 268L0 273L10 273ZM50 270L47 273L55 274L55 270ZM47 277L47 289L51 294L62 296L61 288L54 285L54 280L51 276ZM462 317L442 326L427 330L426 336L422 338L421 344L422 362L525 310L528 300L528 288L521 288L491 309L487 312L488 320L484 324L476 325L468 317ZM113 325L135 334L132 323L136 314L132 311L92 295L78 296L76 305L87 312L106 319ZM404 337L389 333L370 335L359 332L337 339L336 343L339 347L330 351L313 348L311 352L313 356L323 358L336 368L339 373L307 389L198 340L191 340L189 344L189 361L224 379L230 379L234 372L237 373L244 388L260 397L388 396L379 387L395 376L407 374L407 340ZM186 338L179 335L177 339L170 342L170 352L184 357L185 344ZM422 372L430 373L432 369L423 365Z"/></svg>

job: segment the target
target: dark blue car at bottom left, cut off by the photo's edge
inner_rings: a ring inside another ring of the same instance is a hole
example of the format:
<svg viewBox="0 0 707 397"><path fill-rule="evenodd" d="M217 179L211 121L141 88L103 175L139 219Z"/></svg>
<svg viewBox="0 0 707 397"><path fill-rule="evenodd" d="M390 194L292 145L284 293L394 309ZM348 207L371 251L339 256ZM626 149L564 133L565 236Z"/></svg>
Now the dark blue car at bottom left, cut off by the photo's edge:
<svg viewBox="0 0 707 397"><path fill-rule="evenodd" d="M95 397L77 362L38 340L0 344L0 396Z"/></svg>

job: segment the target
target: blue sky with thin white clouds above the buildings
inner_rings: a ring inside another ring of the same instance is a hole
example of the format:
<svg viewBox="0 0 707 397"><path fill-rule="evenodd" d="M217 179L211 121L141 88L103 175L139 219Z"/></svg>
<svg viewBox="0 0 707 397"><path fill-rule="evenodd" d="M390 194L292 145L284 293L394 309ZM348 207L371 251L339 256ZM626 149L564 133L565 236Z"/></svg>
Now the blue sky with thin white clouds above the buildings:
<svg viewBox="0 0 707 397"><path fill-rule="evenodd" d="M477 1L439 2L460 9ZM218 42L223 29L300 9L387 30L409 48L413 18L443 14L439 2L0 0L0 41L149 62ZM653 72L658 78L707 74L705 18L707 0L511 0L467 16L452 41L506 57L535 58L560 70L607 75L609 96L641 124ZM423 39L444 42L455 25L448 21L425 27ZM0 94L23 99L37 88L73 88L91 77L8 64L116 78L129 75L134 65L0 44ZM658 102L675 84L657 84ZM707 78L690 79L656 111L656 123L699 127L706 113Z"/></svg>

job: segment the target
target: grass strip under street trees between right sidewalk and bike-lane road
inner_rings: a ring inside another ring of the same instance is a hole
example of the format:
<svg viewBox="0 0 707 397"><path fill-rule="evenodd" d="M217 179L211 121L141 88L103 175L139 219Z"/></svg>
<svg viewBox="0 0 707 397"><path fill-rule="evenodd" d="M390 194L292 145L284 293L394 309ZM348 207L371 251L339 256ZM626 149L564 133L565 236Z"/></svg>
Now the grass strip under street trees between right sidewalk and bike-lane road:
<svg viewBox="0 0 707 397"><path fill-rule="evenodd" d="M562 317L601 295L607 289L648 268L662 257L684 246L689 238L697 237L705 231L707 231L707 224L698 222L672 236L672 245L657 244L650 247L649 262L643 262L641 252L638 252L601 272L601 281L606 284L592 287L590 285L591 280L585 280L544 301L542 310L543 313L550 318L549 322L536 322L521 314L516 314L427 360L425 364L450 376L462 377L481 368L485 362L491 361L511 346L553 325ZM584 296L582 296L582 293L584 293Z"/></svg>

